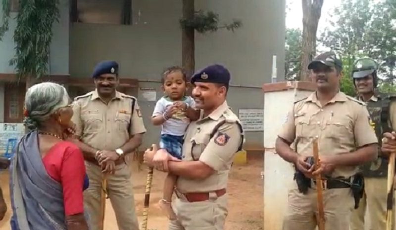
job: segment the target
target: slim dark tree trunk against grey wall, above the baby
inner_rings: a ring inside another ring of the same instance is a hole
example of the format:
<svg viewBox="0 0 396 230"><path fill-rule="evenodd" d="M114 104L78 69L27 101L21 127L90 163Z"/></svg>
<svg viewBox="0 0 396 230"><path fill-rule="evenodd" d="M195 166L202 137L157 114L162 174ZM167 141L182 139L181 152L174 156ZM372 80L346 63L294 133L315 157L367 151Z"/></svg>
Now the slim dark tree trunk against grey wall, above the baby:
<svg viewBox="0 0 396 230"><path fill-rule="evenodd" d="M183 18L194 18L194 0L183 0ZM195 37L194 28L182 30L182 66L191 77L195 71Z"/></svg>

